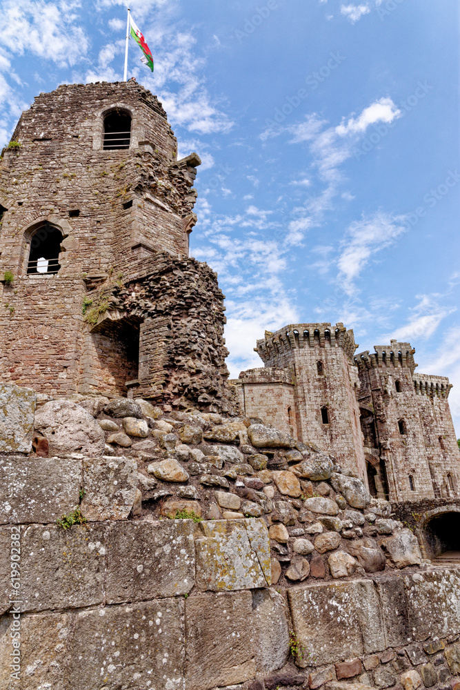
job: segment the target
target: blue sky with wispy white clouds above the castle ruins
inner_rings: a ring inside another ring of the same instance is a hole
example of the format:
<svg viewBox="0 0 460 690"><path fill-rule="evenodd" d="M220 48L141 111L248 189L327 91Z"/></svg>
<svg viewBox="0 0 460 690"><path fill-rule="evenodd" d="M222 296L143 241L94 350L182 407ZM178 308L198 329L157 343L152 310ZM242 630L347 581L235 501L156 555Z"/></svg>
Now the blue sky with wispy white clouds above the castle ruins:
<svg viewBox="0 0 460 690"><path fill-rule="evenodd" d="M219 273L232 376L266 328L341 321L449 376L460 434L457 0L130 7L155 70L131 41L128 77L203 160L190 253ZM39 92L122 78L123 3L2 9L2 142Z"/></svg>

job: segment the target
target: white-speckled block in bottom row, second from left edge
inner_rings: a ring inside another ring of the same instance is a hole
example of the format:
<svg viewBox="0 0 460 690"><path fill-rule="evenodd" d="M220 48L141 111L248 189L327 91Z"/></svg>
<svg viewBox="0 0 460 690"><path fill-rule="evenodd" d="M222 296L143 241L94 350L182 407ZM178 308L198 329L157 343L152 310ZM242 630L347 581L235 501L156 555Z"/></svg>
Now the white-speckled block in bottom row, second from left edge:
<svg viewBox="0 0 460 690"><path fill-rule="evenodd" d="M72 690L181 688L183 639L180 598L81 611L72 638Z"/></svg>

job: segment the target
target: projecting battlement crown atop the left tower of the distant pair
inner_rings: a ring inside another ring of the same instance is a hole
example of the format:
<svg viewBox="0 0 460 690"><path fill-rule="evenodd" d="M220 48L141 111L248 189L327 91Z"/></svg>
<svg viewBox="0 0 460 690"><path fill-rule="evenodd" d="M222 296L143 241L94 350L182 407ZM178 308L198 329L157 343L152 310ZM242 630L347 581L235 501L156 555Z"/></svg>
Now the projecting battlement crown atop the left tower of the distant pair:
<svg viewBox="0 0 460 690"><path fill-rule="evenodd" d="M352 357L358 347L354 342L353 331L342 323L290 324L275 333L265 332L265 338L257 340L257 352L263 362L269 362L279 353L292 353L303 348L340 347Z"/></svg>

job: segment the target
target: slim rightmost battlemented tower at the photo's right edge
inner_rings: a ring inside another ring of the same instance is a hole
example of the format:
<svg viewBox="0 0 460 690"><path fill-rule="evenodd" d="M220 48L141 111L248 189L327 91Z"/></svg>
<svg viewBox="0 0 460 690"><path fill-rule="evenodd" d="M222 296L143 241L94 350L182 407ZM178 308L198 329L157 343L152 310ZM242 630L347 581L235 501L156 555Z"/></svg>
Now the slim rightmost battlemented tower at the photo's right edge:
<svg viewBox="0 0 460 690"><path fill-rule="evenodd" d="M460 453L448 403L451 387L443 376L414 375L434 495L443 498L460 493Z"/></svg>

